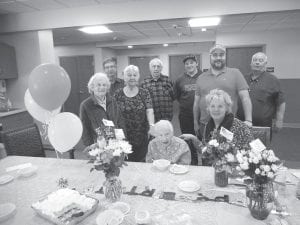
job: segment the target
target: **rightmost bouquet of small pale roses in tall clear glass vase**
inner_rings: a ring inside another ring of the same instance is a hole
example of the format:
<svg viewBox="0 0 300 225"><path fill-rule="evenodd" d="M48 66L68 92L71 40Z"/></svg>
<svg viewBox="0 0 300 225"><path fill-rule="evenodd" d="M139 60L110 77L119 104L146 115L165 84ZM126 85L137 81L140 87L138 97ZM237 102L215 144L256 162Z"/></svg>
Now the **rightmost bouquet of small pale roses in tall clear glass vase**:
<svg viewBox="0 0 300 225"><path fill-rule="evenodd" d="M274 206L273 181L281 161L273 150L242 149L237 152L237 170L249 176L251 182L246 188L248 208L251 215L264 220Z"/></svg>

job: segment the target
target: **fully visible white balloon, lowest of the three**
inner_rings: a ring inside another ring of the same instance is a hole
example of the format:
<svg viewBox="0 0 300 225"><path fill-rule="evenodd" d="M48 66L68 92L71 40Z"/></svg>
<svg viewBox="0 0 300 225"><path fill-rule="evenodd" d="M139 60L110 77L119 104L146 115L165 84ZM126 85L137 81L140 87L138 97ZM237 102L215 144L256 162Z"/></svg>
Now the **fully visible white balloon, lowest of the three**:
<svg viewBox="0 0 300 225"><path fill-rule="evenodd" d="M79 142L81 135L81 120L73 113L59 113L50 120L48 138L60 153L71 150Z"/></svg>

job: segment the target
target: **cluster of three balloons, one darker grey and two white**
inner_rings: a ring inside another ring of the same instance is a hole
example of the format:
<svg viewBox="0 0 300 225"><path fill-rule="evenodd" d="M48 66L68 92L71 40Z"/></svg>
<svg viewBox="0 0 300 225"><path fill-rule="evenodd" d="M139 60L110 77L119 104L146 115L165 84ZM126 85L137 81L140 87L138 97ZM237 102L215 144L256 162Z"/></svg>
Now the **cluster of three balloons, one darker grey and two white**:
<svg viewBox="0 0 300 225"><path fill-rule="evenodd" d="M81 120L73 113L60 112L71 91L67 72L55 64L41 64L29 76L25 107L33 118L48 127L48 138L60 153L71 150L82 135Z"/></svg>

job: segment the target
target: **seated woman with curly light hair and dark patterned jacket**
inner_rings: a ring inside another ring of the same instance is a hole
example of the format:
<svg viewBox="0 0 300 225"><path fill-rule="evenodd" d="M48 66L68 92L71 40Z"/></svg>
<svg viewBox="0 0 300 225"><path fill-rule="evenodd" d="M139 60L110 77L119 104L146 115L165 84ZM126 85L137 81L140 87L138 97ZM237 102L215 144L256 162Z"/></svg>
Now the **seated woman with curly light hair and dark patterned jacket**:
<svg viewBox="0 0 300 225"><path fill-rule="evenodd" d="M205 125L204 135L200 141L192 134L182 134L180 137L185 140L192 140L193 146L200 151L199 145L205 145L212 138L213 131L220 132L221 128L233 133L232 143L239 149L248 145L254 138L251 128L245 123L235 118L232 113L232 100L230 95L220 89L214 89L205 97L207 111L210 115L209 121ZM199 163L198 163L199 164Z"/></svg>

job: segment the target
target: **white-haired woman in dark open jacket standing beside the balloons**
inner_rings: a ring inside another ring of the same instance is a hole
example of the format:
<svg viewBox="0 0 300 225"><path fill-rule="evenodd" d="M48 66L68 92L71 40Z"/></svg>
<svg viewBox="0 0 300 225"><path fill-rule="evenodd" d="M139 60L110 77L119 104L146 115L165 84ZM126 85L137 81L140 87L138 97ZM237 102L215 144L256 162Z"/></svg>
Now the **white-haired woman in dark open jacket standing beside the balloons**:
<svg viewBox="0 0 300 225"><path fill-rule="evenodd" d="M111 120L116 128L124 128L124 122L116 101L109 94L110 81L106 74L96 73L88 82L90 97L80 104L83 126L82 141L90 146L97 140L95 129L104 126L103 119Z"/></svg>

